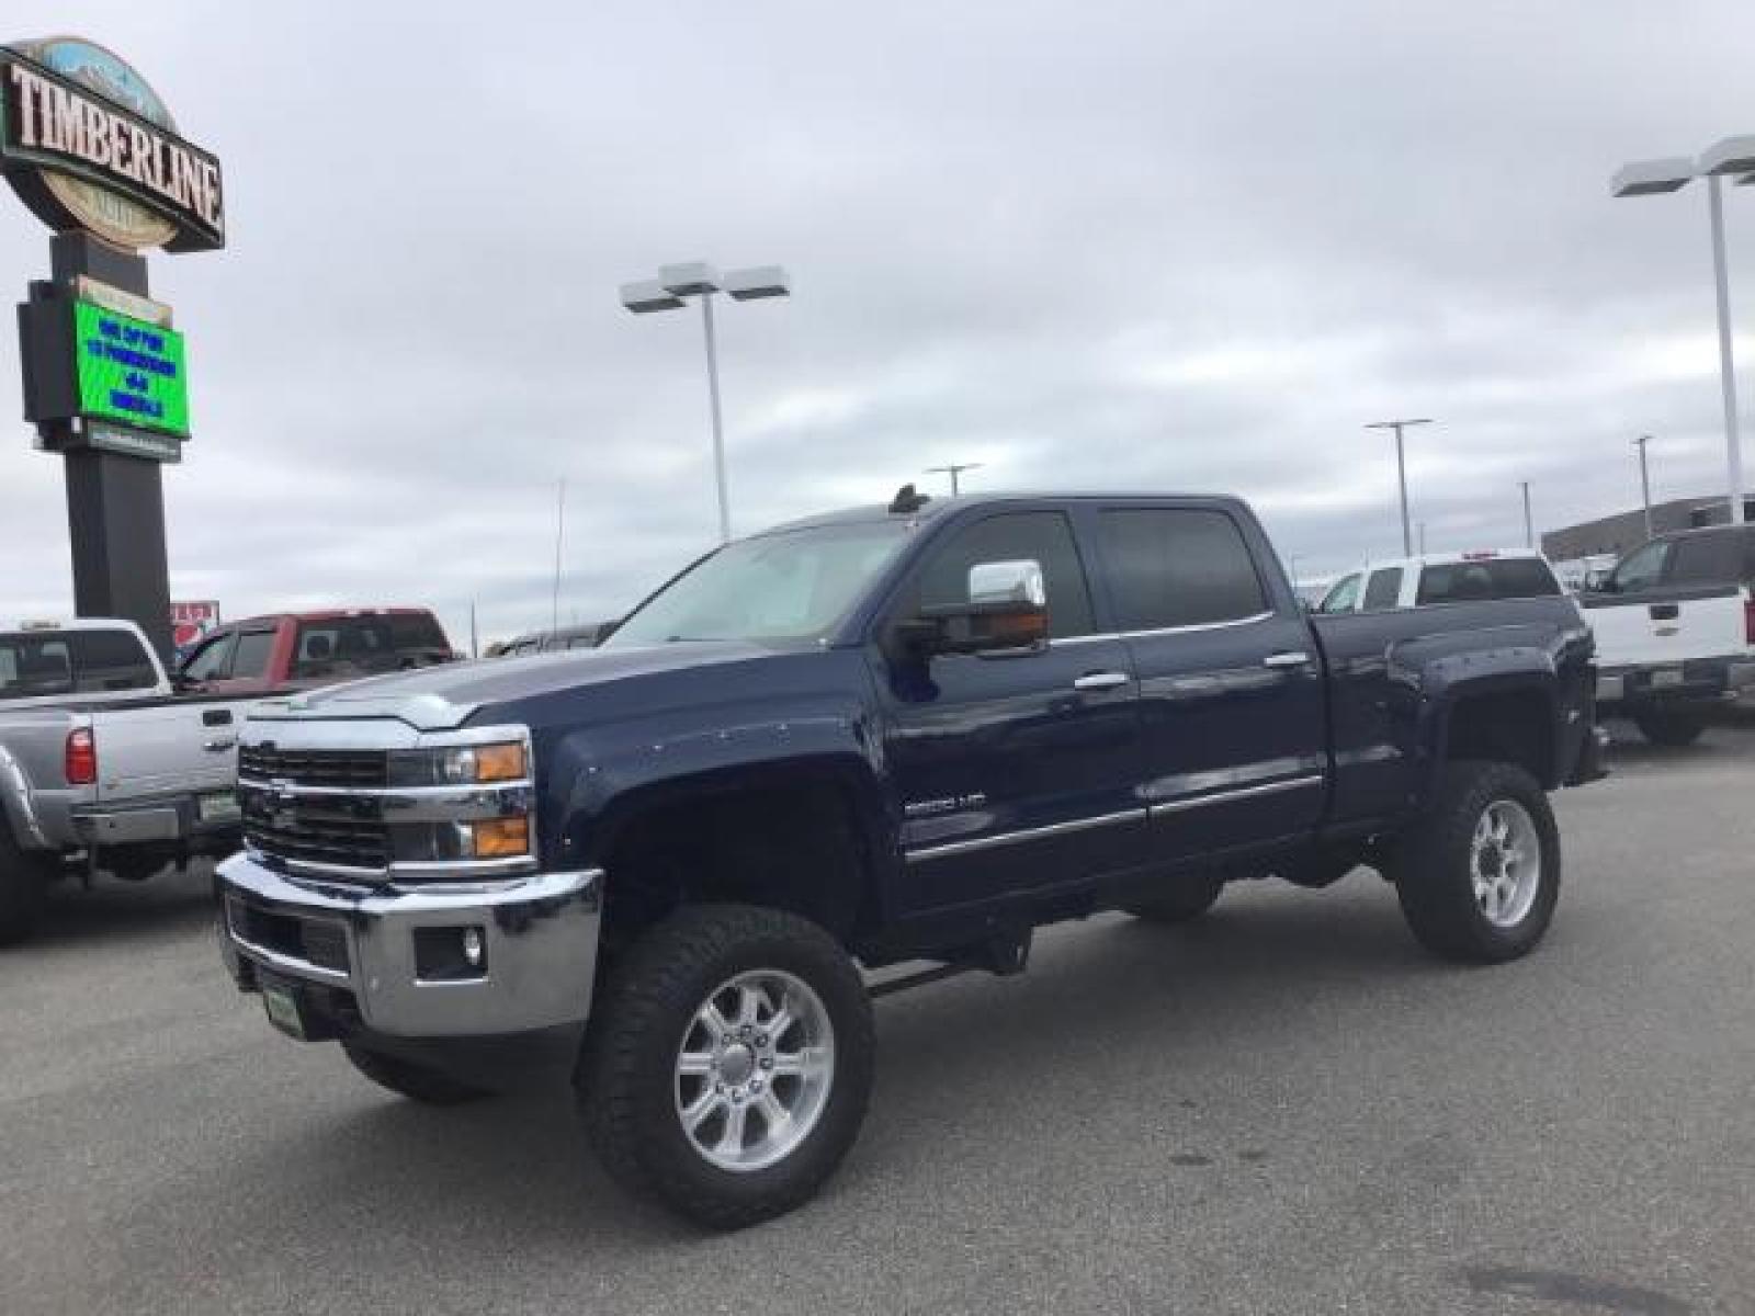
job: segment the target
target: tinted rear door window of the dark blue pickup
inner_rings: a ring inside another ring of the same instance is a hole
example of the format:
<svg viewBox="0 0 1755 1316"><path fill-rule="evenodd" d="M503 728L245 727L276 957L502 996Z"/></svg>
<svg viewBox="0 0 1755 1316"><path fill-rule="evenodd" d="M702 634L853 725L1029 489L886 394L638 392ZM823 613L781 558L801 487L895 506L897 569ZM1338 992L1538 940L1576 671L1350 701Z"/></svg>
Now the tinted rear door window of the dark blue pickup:
<svg viewBox="0 0 1755 1316"><path fill-rule="evenodd" d="M1267 612L1267 593L1237 523L1200 509L1102 514L1121 630L1172 630Z"/></svg>

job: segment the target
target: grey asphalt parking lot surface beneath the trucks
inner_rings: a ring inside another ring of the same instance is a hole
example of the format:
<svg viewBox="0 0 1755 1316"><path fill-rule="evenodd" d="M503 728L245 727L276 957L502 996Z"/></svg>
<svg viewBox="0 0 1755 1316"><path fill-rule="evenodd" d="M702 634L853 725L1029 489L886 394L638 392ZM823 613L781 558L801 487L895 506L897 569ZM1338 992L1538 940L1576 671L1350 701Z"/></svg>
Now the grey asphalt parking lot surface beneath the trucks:
<svg viewBox="0 0 1755 1316"><path fill-rule="evenodd" d="M0 1312L1755 1311L1755 726L1615 769L1523 963L1358 872L883 1000L842 1172L730 1237L546 1076L421 1109L272 1033L204 874L67 891L0 956Z"/></svg>

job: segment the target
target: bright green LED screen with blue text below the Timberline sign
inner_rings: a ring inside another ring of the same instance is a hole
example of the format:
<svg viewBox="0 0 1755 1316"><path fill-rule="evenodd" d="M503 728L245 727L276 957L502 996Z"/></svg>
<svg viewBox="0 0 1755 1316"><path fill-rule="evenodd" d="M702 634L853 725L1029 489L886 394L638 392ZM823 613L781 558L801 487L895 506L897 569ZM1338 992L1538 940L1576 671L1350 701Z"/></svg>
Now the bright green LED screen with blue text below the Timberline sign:
<svg viewBox="0 0 1755 1316"><path fill-rule="evenodd" d="M74 302L79 414L190 435L183 335L91 302Z"/></svg>

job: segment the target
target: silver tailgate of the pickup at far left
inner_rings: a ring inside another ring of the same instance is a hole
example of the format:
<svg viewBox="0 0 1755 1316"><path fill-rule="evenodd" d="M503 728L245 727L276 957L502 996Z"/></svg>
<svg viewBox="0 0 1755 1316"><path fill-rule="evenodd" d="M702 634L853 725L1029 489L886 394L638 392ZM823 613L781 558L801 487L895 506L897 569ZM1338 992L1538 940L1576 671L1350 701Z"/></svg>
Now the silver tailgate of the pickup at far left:
<svg viewBox="0 0 1755 1316"><path fill-rule="evenodd" d="M246 709L240 702L170 698L93 711L98 800L232 790Z"/></svg>

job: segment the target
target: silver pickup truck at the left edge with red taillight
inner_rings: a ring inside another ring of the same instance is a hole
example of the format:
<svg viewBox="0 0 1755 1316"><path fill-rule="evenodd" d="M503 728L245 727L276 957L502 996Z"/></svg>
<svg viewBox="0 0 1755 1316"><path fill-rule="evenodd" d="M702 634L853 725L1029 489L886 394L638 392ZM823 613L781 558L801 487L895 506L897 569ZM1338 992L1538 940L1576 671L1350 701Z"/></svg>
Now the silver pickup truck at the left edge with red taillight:
<svg viewBox="0 0 1755 1316"><path fill-rule="evenodd" d="M0 625L0 944L68 872L139 881L235 849L247 709L174 695L133 623Z"/></svg>

